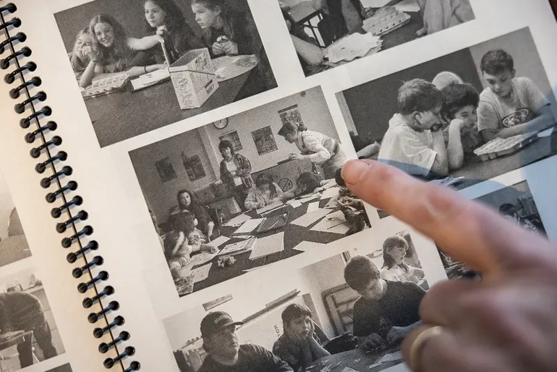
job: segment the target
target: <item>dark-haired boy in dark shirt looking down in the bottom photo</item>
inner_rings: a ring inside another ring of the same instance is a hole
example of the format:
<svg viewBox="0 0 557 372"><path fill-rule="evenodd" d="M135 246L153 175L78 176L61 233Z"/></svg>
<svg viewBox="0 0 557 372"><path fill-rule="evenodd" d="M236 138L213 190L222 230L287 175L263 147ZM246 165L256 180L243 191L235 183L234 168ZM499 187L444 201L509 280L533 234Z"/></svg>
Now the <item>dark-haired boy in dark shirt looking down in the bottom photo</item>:
<svg viewBox="0 0 557 372"><path fill-rule="evenodd" d="M361 295L353 310L353 333L361 348L399 346L421 324L419 307L425 290L415 283L382 279L367 256L352 258L344 277L350 288Z"/></svg>

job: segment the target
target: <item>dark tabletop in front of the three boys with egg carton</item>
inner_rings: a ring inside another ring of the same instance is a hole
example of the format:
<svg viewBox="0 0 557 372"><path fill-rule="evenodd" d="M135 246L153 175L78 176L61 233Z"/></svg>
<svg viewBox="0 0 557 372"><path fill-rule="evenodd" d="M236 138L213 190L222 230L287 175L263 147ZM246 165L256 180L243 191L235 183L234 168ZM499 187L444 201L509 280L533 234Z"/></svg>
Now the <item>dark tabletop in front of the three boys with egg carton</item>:
<svg viewBox="0 0 557 372"><path fill-rule="evenodd" d="M489 180L501 174L514 171L522 166L526 166L545 157L557 154L557 132L554 130L549 137L540 137L538 141L530 144L517 153L496 157L486 162L470 162L464 164L462 168L450 173L453 177L464 177L464 180L457 185L455 189L465 189L476 183Z"/></svg>

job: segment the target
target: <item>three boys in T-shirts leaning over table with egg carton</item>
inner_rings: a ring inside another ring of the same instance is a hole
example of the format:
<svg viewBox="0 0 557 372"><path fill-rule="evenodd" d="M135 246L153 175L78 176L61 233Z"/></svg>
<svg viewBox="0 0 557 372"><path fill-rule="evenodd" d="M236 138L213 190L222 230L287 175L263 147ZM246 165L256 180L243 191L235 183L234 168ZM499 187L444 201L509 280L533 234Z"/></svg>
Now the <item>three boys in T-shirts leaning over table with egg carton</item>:
<svg viewBox="0 0 557 372"><path fill-rule="evenodd" d="M436 86L413 79L398 91L400 113L389 121L379 161L423 178L442 178L472 160L496 137L540 132L555 124L550 102L528 77L516 77L512 56L490 50L480 63L487 88L455 77Z"/></svg>

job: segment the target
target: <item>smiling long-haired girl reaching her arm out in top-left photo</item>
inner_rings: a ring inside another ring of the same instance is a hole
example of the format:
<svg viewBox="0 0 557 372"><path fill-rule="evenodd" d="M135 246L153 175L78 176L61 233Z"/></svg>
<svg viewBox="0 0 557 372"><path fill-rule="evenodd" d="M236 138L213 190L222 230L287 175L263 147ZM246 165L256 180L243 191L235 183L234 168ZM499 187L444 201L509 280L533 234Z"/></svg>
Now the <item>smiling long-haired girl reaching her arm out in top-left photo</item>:
<svg viewBox="0 0 557 372"><path fill-rule="evenodd" d="M126 71L130 77L142 75L164 67L148 65L134 67L134 51L157 45L160 36L136 39L126 36L123 26L106 14L97 15L89 24L91 48L86 50L89 63L79 85L86 88L97 75Z"/></svg>

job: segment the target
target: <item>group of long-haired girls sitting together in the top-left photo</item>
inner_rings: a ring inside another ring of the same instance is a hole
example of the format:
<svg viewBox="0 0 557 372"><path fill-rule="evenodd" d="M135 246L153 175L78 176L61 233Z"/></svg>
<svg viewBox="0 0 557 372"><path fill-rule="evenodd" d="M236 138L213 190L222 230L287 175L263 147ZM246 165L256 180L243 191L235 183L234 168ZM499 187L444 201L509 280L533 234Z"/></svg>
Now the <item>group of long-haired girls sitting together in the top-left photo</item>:
<svg viewBox="0 0 557 372"><path fill-rule="evenodd" d="M191 49L208 48L212 58L257 54L253 22L225 0L191 0L201 38L173 0L145 0L143 8L143 38L127 36L124 26L107 14L95 15L79 31L70 61L81 88L102 74L125 71L136 77L159 70Z"/></svg>

